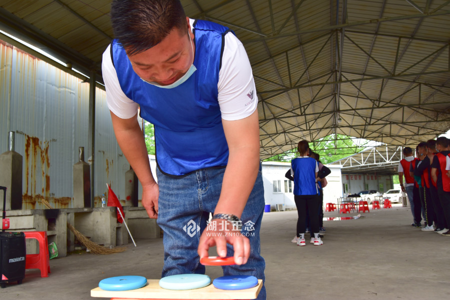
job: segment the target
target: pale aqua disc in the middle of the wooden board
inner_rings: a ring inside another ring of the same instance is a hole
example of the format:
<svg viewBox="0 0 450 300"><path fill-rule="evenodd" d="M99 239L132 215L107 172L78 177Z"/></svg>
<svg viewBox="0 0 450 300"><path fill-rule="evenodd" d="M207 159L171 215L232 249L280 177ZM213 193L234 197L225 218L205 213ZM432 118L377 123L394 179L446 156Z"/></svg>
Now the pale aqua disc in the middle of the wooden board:
<svg viewBox="0 0 450 300"><path fill-rule="evenodd" d="M163 277L159 286L165 289L185 290L204 287L211 283L211 278L203 274L179 274Z"/></svg>

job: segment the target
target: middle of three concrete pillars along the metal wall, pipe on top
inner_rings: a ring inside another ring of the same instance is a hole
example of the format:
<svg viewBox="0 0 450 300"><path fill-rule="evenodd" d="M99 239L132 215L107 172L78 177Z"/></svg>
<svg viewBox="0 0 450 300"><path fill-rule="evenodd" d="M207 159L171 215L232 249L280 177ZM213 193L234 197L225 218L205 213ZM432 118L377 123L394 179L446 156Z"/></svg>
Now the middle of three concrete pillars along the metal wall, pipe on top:
<svg viewBox="0 0 450 300"><path fill-rule="evenodd" d="M74 164L74 207L91 207L91 172L85 160L84 147L79 147L79 161Z"/></svg>

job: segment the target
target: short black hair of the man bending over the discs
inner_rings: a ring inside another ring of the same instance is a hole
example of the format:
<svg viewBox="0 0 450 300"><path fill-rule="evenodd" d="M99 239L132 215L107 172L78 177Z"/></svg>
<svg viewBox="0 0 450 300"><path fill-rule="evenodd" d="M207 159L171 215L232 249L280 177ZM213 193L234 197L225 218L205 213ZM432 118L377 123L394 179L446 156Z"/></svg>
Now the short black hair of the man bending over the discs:
<svg viewBox="0 0 450 300"><path fill-rule="evenodd" d="M111 23L128 55L157 45L174 28L187 28L180 0L113 0Z"/></svg>

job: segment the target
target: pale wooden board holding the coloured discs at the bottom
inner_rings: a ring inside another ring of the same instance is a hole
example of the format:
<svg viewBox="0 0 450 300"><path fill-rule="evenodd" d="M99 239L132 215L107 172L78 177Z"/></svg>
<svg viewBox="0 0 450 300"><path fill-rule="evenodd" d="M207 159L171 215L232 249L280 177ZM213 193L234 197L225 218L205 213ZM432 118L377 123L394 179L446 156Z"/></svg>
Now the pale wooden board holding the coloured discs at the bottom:
<svg viewBox="0 0 450 300"><path fill-rule="evenodd" d="M262 287L262 280L258 285L241 290L223 290L208 286L188 289L170 290L159 286L159 279L147 279L147 285L138 289L124 291L103 290L100 287L91 289L91 297L108 298L141 298L141 299L255 299Z"/></svg>

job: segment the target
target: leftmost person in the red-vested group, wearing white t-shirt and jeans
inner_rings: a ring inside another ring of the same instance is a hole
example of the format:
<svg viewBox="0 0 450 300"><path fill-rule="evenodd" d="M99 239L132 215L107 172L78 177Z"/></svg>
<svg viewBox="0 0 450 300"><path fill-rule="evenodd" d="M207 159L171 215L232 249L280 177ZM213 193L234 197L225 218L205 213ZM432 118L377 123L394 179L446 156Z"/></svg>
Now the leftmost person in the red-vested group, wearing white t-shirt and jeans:
<svg viewBox="0 0 450 300"><path fill-rule="evenodd" d="M401 191L405 191L406 195L408 196L409 200L409 206L411 207L411 213L413 217L413 222L411 226L413 227L420 227L420 209L418 210L418 216L414 214L414 206L415 202L419 202L420 205L420 199L416 199L414 201L414 177L409 174L409 167L411 164L411 161L415 159L415 157L412 155L412 149L410 147L404 147L403 148L403 155L404 158L400 160L398 163L398 180L400 181L400 187ZM405 179L405 183L403 184L403 176Z"/></svg>

